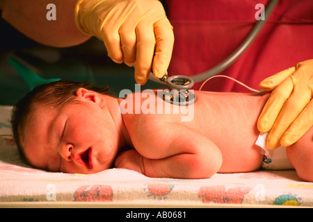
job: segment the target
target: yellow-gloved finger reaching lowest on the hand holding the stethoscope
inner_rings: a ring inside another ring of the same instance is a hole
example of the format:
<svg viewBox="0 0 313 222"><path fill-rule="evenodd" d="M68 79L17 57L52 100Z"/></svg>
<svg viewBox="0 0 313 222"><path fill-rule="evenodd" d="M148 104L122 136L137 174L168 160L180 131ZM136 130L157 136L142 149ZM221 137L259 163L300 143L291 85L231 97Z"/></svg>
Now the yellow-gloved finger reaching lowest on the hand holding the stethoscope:
<svg viewBox="0 0 313 222"><path fill-rule="evenodd" d="M156 43L152 25L149 26L145 22L140 22L136 27L136 35L135 80L136 83L144 85L152 69L152 58Z"/></svg>

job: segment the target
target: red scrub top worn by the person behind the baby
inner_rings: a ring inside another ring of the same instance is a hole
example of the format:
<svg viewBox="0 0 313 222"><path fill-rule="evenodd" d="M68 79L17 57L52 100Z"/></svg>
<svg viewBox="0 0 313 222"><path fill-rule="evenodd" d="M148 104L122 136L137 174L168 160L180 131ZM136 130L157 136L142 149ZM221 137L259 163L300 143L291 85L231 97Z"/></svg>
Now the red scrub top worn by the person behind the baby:
<svg viewBox="0 0 313 222"><path fill-rule="evenodd" d="M168 0L175 44L168 74L193 76L218 65L245 40L257 22L255 9L268 0ZM259 14L257 14L259 15ZM313 58L313 1L280 0L262 31L236 62L220 74L259 89L259 82ZM199 89L196 83L194 89ZM203 90L250 92L226 78Z"/></svg>

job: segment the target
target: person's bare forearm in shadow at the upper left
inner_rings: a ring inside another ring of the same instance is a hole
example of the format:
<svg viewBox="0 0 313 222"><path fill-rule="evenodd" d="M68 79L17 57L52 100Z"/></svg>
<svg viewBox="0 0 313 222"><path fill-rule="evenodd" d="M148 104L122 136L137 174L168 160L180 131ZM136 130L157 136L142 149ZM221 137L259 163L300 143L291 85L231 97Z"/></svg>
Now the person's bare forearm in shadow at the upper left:
<svg viewBox="0 0 313 222"><path fill-rule="evenodd" d="M18 31L31 39L49 46L66 47L81 44L90 36L83 35L74 20L74 6L77 0L1 0L2 17ZM47 19L56 6L56 20ZM6 33L2 33L6 35Z"/></svg>

